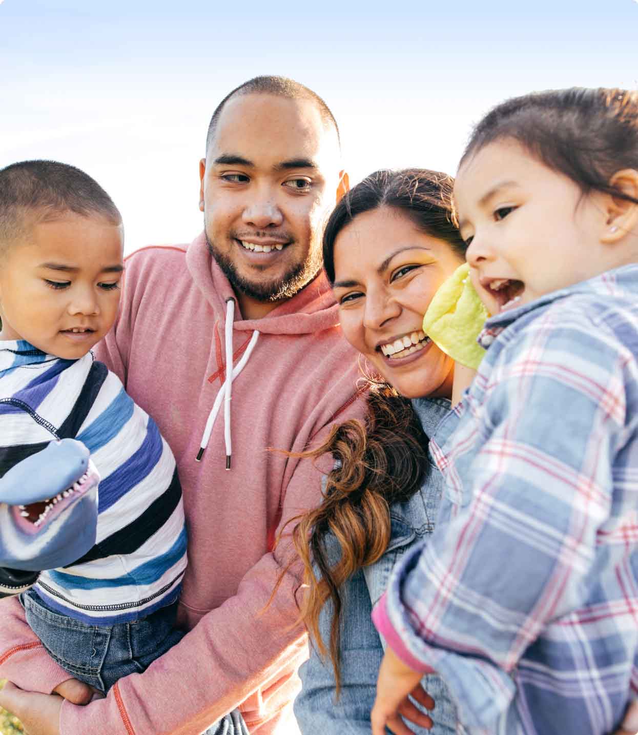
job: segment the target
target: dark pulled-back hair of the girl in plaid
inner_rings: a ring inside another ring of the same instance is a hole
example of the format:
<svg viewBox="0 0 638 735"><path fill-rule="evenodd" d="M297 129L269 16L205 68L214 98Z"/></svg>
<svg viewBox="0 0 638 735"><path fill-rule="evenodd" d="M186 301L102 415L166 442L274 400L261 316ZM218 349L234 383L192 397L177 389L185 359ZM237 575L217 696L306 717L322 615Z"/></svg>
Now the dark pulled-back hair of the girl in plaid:
<svg viewBox="0 0 638 735"><path fill-rule="evenodd" d="M638 204L609 183L616 171L638 169L638 92L573 87L506 100L478 123L461 165L503 138L563 173L584 195L601 191Z"/></svg>

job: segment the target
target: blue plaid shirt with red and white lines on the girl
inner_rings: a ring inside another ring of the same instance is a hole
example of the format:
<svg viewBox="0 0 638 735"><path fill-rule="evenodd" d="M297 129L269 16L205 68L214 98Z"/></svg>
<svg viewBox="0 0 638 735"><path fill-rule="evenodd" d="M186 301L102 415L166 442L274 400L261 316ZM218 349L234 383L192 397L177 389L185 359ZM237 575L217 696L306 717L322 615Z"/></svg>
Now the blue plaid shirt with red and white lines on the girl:
<svg viewBox="0 0 638 735"><path fill-rule="evenodd" d="M638 266L487 322L437 530L376 611L476 734L606 734L638 690Z"/></svg>

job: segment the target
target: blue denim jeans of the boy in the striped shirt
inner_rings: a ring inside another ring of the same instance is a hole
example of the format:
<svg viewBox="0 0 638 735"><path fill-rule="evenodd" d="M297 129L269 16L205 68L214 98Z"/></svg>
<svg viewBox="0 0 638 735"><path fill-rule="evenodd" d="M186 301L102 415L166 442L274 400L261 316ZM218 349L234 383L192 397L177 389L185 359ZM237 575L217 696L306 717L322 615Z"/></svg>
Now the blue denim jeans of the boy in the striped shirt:
<svg viewBox="0 0 638 735"><path fill-rule="evenodd" d="M101 692L108 692L123 676L142 673L184 637L183 631L173 628L176 602L135 623L107 626L89 625L56 612L34 589L28 589L20 599L26 622L51 658ZM236 710L211 725L204 735L248 735L248 729Z"/></svg>

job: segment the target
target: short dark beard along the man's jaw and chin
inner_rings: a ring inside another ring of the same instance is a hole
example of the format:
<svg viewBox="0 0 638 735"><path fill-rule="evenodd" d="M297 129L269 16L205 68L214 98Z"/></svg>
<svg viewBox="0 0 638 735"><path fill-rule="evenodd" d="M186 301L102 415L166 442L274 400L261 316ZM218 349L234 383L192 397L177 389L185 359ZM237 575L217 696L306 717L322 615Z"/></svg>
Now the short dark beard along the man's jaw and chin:
<svg viewBox="0 0 638 735"><path fill-rule="evenodd" d="M307 259L293 264L290 270L284 273L282 278L267 283L254 283L237 273L237 268L235 268L232 259L215 249L215 246L208 237L208 233L206 233L206 241L208 243L209 253L215 258L233 289L262 303L292 298L304 286L309 284L321 270L320 248L316 246L312 247L311 245ZM287 247L290 248L293 245L287 245Z"/></svg>

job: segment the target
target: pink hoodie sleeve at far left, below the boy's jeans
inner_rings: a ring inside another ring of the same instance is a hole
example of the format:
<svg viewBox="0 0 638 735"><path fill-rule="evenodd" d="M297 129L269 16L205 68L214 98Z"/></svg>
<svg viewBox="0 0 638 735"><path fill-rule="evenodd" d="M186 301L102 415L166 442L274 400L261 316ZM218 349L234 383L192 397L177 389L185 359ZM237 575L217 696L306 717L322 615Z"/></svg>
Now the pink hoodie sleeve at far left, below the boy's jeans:
<svg viewBox="0 0 638 735"><path fill-rule="evenodd" d="M0 678L21 689L51 694L71 675L46 653L24 619L17 597L0 601Z"/></svg>

